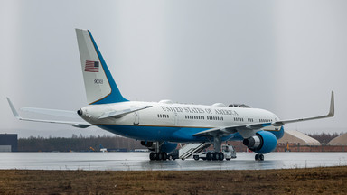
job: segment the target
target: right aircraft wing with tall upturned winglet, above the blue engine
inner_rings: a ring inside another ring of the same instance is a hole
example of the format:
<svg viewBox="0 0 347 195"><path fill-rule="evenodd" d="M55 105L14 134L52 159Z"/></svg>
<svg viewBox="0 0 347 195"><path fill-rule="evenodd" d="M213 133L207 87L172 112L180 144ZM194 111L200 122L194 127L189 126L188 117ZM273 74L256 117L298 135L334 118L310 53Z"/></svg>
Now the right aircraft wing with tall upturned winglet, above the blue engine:
<svg viewBox="0 0 347 195"><path fill-rule="evenodd" d="M324 115L324 116L314 116L314 117L305 117L305 118L297 118L297 119L279 120L279 121L275 121L272 123L222 126L222 127L211 128L211 129L199 132L199 133L195 134L194 136L230 135L230 134L234 134L236 132L239 132L239 134L242 135L243 138L248 138L252 135L255 135L257 133L257 131L259 131L261 128L266 127L266 126L281 126L281 125L285 125L288 123L297 123L297 122L302 122L302 121L316 120L316 119L321 119L321 118L326 118L326 117L333 117L334 113L335 113L334 98L333 98L333 91L332 91L329 113L327 115Z"/></svg>

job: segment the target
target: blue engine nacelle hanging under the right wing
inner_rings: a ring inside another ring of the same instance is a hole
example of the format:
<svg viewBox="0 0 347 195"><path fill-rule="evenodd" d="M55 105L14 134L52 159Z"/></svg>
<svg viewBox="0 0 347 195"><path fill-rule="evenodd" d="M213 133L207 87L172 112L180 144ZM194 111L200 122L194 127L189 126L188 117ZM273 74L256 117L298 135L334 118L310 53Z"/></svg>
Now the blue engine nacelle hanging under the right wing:
<svg viewBox="0 0 347 195"><path fill-rule="evenodd" d="M255 153L271 153L277 146L277 138L270 132L259 131L256 135L244 139L243 144Z"/></svg>

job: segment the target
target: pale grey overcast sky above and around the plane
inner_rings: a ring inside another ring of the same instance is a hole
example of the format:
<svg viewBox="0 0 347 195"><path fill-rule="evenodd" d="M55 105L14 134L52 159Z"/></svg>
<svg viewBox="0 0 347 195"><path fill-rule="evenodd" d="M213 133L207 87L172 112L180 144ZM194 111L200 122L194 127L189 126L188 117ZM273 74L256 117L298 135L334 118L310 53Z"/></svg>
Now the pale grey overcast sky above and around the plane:
<svg viewBox="0 0 347 195"><path fill-rule="evenodd" d="M0 133L109 135L18 121L5 100L86 106L74 28L92 32L128 99L244 103L291 119L326 114L333 90L333 118L286 129L347 132L346 9L343 0L1 0Z"/></svg>

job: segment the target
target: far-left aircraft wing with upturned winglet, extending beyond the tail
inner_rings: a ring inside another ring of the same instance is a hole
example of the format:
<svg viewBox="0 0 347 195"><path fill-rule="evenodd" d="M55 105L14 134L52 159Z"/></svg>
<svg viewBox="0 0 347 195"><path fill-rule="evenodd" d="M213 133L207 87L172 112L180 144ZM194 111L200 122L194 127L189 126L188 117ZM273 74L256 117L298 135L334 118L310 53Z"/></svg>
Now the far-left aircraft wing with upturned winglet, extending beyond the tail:
<svg viewBox="0 0 347 195"><path fill-rule="evenodd" d="M19 116L17 110L14 108L14 105L12 104L10 98L7 98L8 104L11 107L12 113L14 114L14 117L16 117L19 120L23 120L23 121L33 121L33 122L42 122L42 123L55 123L55 124L65 124L65 125L72 125L74 127L78 127L78 128L87 128L89 126L91 126L88 123L84 123L84 122L72 122L72 121L55 121L55 120L42 120L42 119L33 119L33 118L23 118L22 116ZM42 113L42 114L46 114L46 112L48 112L50 109L42 109L42 108L33 108L30 107L29 109L26 108L27 111L32 111L32 112L36 112L36 113ZM65 111L65 110L54 110L55 113L59 113L61 111L61 113L64 112L70 112L70 111ZM54 112L52 112L54 113ZM51 114L53 115L53 114ZM54 115L54 116L60 116L60 115Z"/></svg>

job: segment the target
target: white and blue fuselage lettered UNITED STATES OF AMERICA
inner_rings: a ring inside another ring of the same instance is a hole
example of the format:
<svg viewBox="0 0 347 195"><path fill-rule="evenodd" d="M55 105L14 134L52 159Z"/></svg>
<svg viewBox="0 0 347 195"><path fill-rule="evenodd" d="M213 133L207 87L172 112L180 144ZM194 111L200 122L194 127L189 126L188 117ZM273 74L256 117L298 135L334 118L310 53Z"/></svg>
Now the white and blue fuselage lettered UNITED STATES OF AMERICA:
<svg viewBox="0 0 347 195"><path fill-rule="evenodd" d="M103 113L143 106L151 107L121 117L98 119ZM126 135L142 140L146 140L147 137L141 135L141 127L162 127L162 131L159 131L159 134L162 133L162 136L163 134L166 135L166 137L164 136L165 139L171 139L173 141L183 139L184 141L189 141L192 139L190 136L186 138L187 140L183 137L175 139L169 136L174 136L174 131L177 130L190 131L190 135L192 135L193 133L214 127L272 123L279 120L275 114L259 108L203 106L162 102L127 101L114 104L89 105L81 108L81 110L83 112L81 117L90 124L98 125L118 135ZM109 126L117 126L117 130L115 128L111 128L110 130ZM136 127L138 134L134 131L130 133L130 130L126 129L129 126ZM279 128L267 126L266 130L279 131ZM128 134L127 131L129 131ZM165 132L163 133L163 131ZM153 131L153 134L156 133L158 132ZM151 132L146 132L146 134L151 134ZM193 142L194 140L191 141Z"/></svg>

